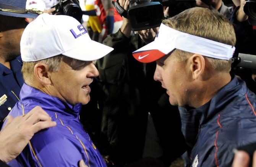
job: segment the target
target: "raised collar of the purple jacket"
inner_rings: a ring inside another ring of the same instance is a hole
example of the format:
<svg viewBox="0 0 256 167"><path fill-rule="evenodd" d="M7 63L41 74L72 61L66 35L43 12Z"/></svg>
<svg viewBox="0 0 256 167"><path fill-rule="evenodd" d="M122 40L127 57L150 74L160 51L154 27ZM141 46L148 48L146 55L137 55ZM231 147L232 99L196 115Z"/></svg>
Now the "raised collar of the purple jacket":
<svg viewBox="0 0 256 167"><path fill-rule="evenodd" d="M78 117L82 104L71 105L57 97L47 95L40 90L27 84L23 84L19 94L20 103L24 108L34 108L41 106L47 111L59 112L65 116Z"/></svg>

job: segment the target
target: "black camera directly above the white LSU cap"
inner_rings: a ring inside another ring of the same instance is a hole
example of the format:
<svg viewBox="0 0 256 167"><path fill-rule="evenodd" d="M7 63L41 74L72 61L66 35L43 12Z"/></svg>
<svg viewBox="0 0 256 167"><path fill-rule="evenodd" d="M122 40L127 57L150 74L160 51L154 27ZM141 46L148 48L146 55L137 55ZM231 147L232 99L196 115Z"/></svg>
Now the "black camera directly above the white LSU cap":
<svg viewBox="0 0 256 167"><path fill-rule="evenodd" d="M75 18L80 23L82 21L83 13L78 0L59 0L59 2L52 6L52 8L55 8L55 11L53 11L52 14L57 13L67 15Z"/></svg>

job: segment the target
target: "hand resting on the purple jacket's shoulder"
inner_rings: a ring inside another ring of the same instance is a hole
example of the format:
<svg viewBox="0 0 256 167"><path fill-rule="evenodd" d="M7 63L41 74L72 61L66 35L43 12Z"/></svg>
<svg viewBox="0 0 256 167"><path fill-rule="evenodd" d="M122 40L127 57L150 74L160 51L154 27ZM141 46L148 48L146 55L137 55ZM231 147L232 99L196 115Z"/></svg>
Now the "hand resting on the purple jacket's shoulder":
<svg viewBox="0 0 256 167"><path fill-rule="evenodd" d="M24 116L14 119L7 116L6 119L7 123L0 131L0 159L3 162L16 158L28 145L34 133L56 125L40 106L36 106Z"/></svg>

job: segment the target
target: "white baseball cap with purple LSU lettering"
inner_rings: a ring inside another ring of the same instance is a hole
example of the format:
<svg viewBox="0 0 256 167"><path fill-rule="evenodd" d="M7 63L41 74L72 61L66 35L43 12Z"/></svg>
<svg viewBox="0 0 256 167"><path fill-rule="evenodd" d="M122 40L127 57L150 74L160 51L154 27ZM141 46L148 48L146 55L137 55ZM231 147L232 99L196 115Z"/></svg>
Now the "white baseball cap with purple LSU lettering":
<svg viewBox="0 0 256 167"><path fill-rule="evenodd" d="M66 15L39 15L28 24L21 36L21 59L39 61L65 55L82 61L93 61L113 48L90 39L86 29Z"/></svg>

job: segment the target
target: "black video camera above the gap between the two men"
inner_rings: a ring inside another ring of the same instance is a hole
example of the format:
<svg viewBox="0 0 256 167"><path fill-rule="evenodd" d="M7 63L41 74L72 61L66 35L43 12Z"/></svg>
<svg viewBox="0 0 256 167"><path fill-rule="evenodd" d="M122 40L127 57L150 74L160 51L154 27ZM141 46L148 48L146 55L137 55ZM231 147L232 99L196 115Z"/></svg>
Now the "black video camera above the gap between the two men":
<svg viewBox="0 0 256 167"><path fill-rule="evenodd" d="M131 21L133 31L141 31L159 27L164 18L163 6L160 2L150 0L130 0L128 11L125 11L118 3L113 2L117 12Z"/></svg>

